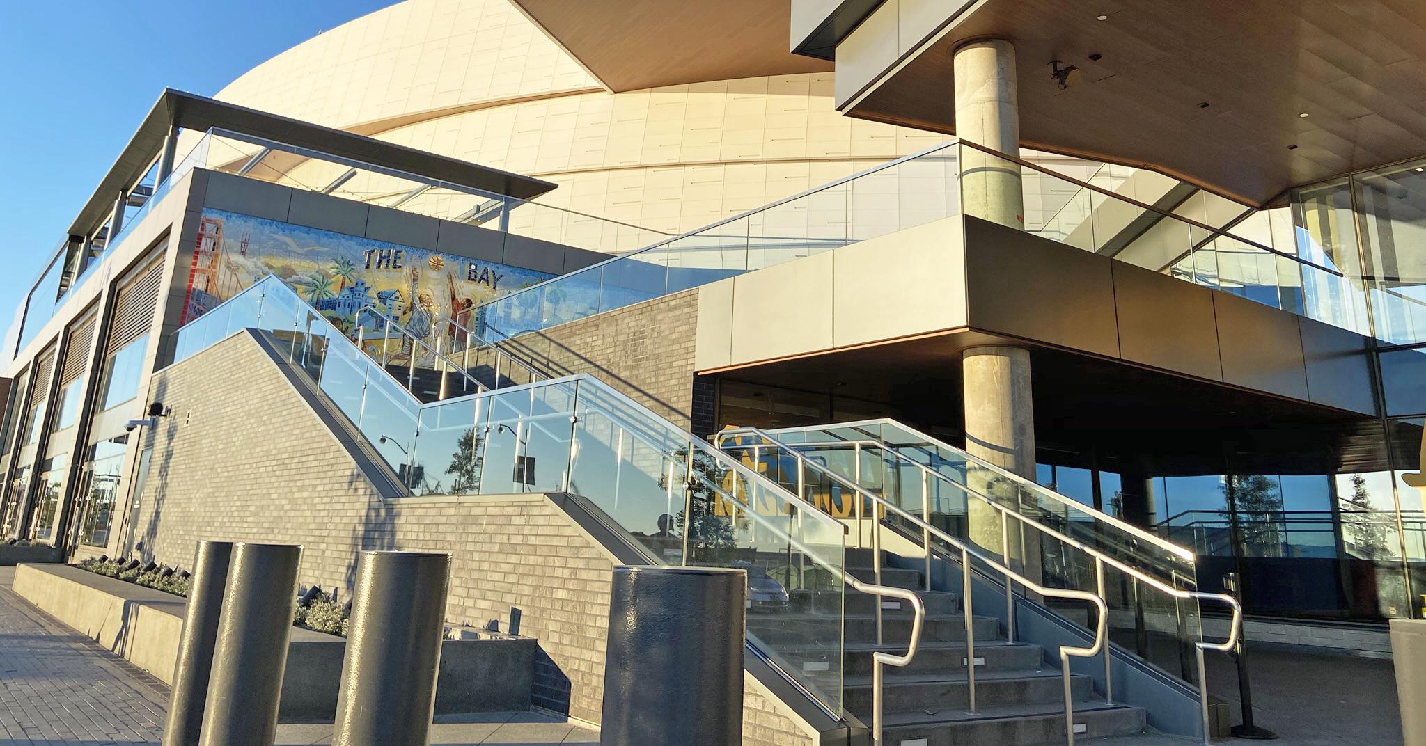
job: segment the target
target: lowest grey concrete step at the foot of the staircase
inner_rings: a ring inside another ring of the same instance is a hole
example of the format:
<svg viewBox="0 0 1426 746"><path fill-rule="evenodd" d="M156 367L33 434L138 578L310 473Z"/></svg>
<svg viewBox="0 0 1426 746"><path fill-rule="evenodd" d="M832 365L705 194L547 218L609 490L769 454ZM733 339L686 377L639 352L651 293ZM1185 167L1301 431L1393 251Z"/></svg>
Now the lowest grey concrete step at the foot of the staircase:
<svg viewBox="0 0 1426 746"><path fill-rule="evenodd" d="M1075 737L1109 737L1142 733L1142 707L1105 705L1101 699L1075 702ZM1031 746L1065 742L1064 703L987 705L965 710L888 712L884 746ZM924 740L923 740L924 739Z"/></svg>

